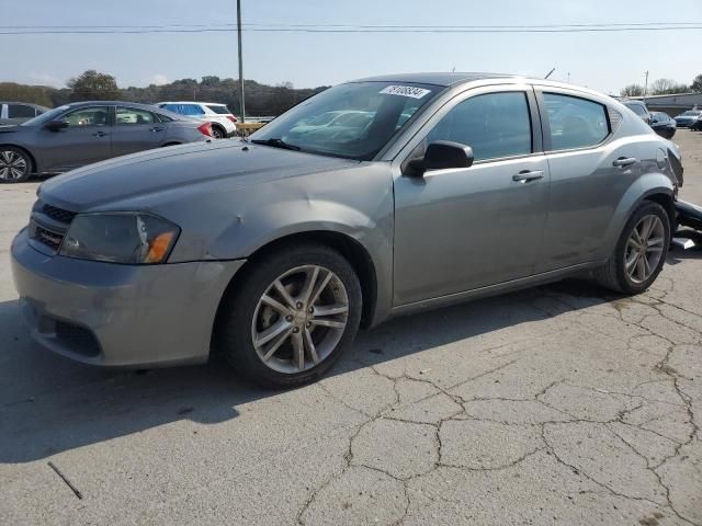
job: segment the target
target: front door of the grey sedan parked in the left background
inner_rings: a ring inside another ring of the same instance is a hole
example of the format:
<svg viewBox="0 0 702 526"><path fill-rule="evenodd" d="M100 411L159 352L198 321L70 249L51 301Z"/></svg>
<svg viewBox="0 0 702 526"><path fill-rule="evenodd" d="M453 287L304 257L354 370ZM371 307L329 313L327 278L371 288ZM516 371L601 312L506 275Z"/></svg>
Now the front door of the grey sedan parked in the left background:
<svg viewBox="0 0 702 526"><path fill-rule="evenodd" d="M111 157L110 106L83 106L65 113L57 121L68 127L58 132L41 130L39 149L45 171L66 171Z"/></svg>

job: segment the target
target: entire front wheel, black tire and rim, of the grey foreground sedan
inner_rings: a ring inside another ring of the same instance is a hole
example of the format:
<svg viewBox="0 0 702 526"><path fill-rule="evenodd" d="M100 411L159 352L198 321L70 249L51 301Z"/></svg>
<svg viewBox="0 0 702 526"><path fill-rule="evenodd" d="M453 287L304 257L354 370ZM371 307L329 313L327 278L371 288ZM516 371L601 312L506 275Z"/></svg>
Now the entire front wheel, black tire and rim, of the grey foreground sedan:
<svg viewBox="0 0 702 526"><path fill-rule="evenodd" d="M286 245L247 265L249 272L245 271L244 279L237 281L238 286L223 301L216 350L238 376L267 388L316 380L333 366L359 330L362 294L353 267L335 250L316 243ZM310 281L321 288L312 287L310 296L318 297L305 301L305 285ZM344 302L347 310L341 312ZM319 315L331 307L335 312ZM274 333L279 335L271 336Z"/></svg>

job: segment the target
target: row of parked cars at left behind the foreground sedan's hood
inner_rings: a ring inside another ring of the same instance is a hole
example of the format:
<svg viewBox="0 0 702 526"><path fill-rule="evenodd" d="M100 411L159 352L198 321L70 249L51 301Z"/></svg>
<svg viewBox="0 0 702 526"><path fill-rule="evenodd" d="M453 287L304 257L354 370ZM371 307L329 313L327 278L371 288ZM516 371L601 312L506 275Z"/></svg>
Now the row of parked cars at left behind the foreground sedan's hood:
<svg viewBox="0 0 702 526"><path fill-rule="evenodd" d="M231 137L226 104L78 102L49 110L0 103L0 183L152 148Z"/></svg>

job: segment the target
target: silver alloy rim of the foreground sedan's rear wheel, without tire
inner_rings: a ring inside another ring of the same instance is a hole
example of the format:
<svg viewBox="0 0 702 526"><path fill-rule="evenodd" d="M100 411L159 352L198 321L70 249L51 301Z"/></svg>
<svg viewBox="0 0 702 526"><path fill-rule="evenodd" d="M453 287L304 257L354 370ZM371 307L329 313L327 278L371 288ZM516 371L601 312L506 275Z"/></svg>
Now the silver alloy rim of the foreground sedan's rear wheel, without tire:
<svg viewBox="0 0 702 526"><path fill-rule="evenodd" d="M654 214L642 217L624 250L624 270L633 283L642 284L656 272L665 241L666 231L660 218Z"/></svg>

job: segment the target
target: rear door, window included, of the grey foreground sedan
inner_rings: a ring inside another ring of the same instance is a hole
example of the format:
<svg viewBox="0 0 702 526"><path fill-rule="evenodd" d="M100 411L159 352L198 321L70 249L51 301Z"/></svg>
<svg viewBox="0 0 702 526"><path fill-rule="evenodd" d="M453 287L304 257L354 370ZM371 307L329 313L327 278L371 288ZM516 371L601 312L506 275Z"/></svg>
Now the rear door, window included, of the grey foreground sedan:
<svg viewBox="0 0 702 526"><path fill-rule="evenodd" d="M641 150L611 140L615 110L585 94L537 89L551 172L540 272L599 259L602 239L626 190L641 174ZM622 164L621 160L625 160Z"/></svg>

